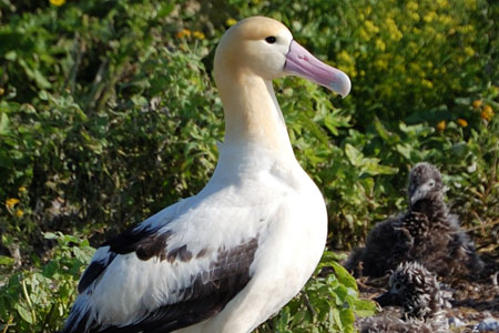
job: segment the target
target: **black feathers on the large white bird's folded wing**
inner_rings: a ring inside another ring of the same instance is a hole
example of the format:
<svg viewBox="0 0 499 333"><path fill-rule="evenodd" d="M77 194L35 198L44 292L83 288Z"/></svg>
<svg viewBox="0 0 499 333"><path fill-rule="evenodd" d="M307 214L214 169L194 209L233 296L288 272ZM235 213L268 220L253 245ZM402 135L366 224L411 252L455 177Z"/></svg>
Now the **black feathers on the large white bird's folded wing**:
<svg viewBox="0 0 499 333"><path fill-rule="evenodd" d="M171 235L172 232L159 233L157 230L129 229L105 242L102 246L110 246L108 258L89 265L80 280L79 292L85 292L118 254L135 252L140 260L150 260L155 256L169 262L192 260L193 255L185 245L173 249L169 253L165 252L166 242ZM77 319L72 317L71 322L67 322L62 333L160 333L204 321L221 312L248 283L249 266L257 245L258 241L255 238L233 249L220 249L216 261L210 265L210 271L193 276L191 286L179 291L177 303L161 306L144 317L138 319L134 324L100 326L96 322L88 323L89 313L85 313L81 321L77 321ZM205 254L206 251L201 251L196 256ZM89 329L85 329L86 326Z"/></svg>

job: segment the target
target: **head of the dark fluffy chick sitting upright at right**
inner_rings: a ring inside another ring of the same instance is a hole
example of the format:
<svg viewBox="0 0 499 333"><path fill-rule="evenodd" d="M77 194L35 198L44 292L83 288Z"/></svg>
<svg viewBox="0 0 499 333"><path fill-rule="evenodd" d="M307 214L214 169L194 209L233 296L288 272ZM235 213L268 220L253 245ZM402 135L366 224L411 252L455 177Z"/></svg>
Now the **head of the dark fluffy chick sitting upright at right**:
<svg viewBox="0 0 499 333"><path fill-rule="evenodd" d="M439 200L444 193L444 183L438 169L426 162L416 164L409 174L409 205L421 200Z"/></svg>

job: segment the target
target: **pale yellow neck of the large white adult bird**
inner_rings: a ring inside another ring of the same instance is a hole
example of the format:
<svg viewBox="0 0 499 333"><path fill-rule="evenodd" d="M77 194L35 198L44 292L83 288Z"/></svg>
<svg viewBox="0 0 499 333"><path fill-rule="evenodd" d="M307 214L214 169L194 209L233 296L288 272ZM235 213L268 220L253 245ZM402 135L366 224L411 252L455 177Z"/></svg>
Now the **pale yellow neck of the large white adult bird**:
<svg viewBox="0 0 499 333"><path fill-rule="evenodd" d="M272 82L244 70L215 73L215 80L225 113L224 145L257 144L294 159Z"/></svg>

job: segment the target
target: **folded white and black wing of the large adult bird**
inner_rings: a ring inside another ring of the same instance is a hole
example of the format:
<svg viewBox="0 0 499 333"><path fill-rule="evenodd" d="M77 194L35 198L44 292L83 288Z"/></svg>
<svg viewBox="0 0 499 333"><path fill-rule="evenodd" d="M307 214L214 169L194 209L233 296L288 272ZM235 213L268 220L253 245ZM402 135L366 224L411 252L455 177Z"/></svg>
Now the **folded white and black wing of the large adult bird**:
<svg viewBox="0 0 499 333"><path fill-rule="evenodd" d="M249 281L276 209L232 190L201 192L99 248L63 332L169 332L218 313Z"/></svg>

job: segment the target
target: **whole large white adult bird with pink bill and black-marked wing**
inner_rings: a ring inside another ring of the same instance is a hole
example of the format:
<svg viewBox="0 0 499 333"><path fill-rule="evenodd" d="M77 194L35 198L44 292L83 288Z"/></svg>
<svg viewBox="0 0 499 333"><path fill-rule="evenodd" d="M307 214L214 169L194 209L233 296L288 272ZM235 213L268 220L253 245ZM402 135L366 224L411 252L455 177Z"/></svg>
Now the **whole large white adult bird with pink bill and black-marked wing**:
<svg viewBox="0 0 499 333"><path fill-rule="evenodd" d="M226 31L214 63L225 139L212 179L98 249L62 332L251 332L299 292L327 214L274 94L272 80L286 74L350 89L281 22L253 17Z"/></svg>

